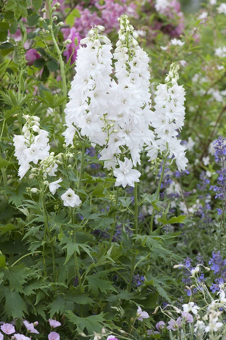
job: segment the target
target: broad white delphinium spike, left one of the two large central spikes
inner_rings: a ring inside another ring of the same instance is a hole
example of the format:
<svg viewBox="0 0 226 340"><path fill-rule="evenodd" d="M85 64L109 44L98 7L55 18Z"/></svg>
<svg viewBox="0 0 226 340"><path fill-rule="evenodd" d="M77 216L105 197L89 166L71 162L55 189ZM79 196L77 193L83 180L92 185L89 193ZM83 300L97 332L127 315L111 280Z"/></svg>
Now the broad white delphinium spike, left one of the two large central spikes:
<svg viewBox="0 0 226 340"><path fill-rule="evenodd" d="M102 26L92 28L89 37L82 39L77 51L76 74L71 82L68 93L70 98L66 105L66 126L63 133L66 145L73 143L77 129L81 135L89 137L90 141L104 145L108 134L104 116L107 113L107 97L112 71L112 47L110 40L98 33ZM104 44L101 44L101 41Z"/></svg>

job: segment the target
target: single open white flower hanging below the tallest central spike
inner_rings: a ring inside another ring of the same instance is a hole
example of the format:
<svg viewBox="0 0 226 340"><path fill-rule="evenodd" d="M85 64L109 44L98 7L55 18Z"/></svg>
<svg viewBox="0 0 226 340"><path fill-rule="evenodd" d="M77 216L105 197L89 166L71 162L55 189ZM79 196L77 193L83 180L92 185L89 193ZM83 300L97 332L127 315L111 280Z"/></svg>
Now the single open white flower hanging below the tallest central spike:
<svg viewBox="0 0 226 340"><path fill-rule="evenodd" d="M140 182L139 177L141 173L138 170L133 169L133 163L131 159L125 157L125 162L119 160L119 168L113 171L116 177L115 186L122 185L123 188L128 184L134 187L134 182Z"/></svg>

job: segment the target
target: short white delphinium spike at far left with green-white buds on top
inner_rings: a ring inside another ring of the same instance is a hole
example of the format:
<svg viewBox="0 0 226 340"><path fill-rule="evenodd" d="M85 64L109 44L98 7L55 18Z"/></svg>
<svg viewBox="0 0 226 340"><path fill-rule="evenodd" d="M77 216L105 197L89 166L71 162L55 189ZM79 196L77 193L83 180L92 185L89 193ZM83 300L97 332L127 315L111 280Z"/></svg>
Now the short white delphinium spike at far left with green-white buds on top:
<svg viewBox="0 0 226 340"><path fill-rule="evenodd" d="M39 160L49 157L50 150L48 132L39 128L40 118L29 115L23 115L23 118L26 120L22 128L23 135L13 137L20 179L31 168L30 163L37 164Z"/></svg>

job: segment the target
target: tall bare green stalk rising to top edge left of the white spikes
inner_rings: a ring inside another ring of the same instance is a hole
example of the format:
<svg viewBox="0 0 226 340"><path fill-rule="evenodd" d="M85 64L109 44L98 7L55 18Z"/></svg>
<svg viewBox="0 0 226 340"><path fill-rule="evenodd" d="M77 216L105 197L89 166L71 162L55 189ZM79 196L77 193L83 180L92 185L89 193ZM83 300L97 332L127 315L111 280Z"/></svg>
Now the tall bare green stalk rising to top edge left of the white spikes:
<svg viewBox="0 0 226 340"><path fill-rule="evenodd" d="M63 83L63 96L65 97L65 100L67 98L67 82L66 82L66 77L65 77L65 65L64 65L64 61L62 58L62 52L59 49L59 46L57 45L54 33L53 33L53 17L52 17L52 1L48 0L48 5L49 5L49 23L50 26L52 27L50 30L50 35L51 38L53 40L53 45L55 47L55 50L57 52L57 56L58 56L58 60L59 60L59 65L60 65L60 75L62 78L62 83ZM64 109L65 109L65 103L63 104L63 108L62 108L62 124L65 124L65 113L64 113Z"/></svg>

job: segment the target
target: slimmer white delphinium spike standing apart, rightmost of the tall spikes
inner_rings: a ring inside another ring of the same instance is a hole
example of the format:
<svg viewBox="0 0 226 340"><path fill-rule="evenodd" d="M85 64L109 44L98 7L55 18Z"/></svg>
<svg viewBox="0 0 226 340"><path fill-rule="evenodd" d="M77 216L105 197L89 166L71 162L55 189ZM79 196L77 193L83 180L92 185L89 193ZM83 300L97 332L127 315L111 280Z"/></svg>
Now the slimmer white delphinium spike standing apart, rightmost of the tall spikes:
<svg viewBox="0 0 226 340"><path fill-rule="evenodd" d="M185 157L185 147L181 140L177 139L178 131L181 131L185 118L185 90L179 86L177 80L178 65L171 64L166 84L159 84L155 92L155 112L152 113L152 126L158 139L147 147L147 155L150 161L155 159L158 152L166 151L169 158L174 157L178 170L185 170L188 159Z"/></svg>

